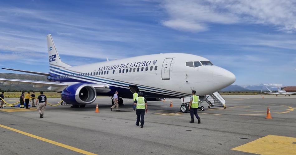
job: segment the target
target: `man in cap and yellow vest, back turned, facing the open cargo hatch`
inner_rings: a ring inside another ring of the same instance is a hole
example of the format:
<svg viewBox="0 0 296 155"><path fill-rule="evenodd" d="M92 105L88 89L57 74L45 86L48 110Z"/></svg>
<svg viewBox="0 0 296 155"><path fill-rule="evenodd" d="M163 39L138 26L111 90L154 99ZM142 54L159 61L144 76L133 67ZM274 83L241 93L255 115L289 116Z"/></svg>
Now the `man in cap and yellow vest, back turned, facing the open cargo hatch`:
<svg viewBox="0 0 296 155"><path fill-rule="evenodd" d="M137 97L134 101L134 105L137 106L137 121L136 125L139 126L140 117L141 117L141 128L144 127L144 115L145 111L147 113L147 100L143 97L143 93L139 92L139 97Z"/></svg>

